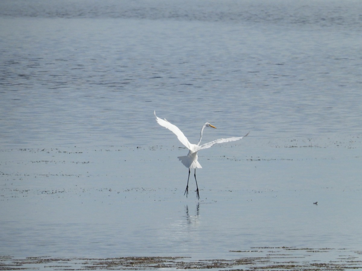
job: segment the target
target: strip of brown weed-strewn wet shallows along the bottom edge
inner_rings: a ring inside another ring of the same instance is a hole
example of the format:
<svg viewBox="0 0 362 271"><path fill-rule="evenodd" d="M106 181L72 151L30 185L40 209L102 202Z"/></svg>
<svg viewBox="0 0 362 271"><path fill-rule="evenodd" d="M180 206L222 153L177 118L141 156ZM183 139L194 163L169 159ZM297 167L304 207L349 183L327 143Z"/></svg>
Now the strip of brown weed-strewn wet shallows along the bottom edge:
<svg viewBox="0 0 362 271"><path fill-rule="evenodd" d="M116 257L116 258L0 258L0 270L349 270L362 269L362 251L337 249L338 258L318 260L318 254L334 249L264 247L232 251L235 259L190 260L189 257ZM328 258L328 255L327 255Z"/></svg>

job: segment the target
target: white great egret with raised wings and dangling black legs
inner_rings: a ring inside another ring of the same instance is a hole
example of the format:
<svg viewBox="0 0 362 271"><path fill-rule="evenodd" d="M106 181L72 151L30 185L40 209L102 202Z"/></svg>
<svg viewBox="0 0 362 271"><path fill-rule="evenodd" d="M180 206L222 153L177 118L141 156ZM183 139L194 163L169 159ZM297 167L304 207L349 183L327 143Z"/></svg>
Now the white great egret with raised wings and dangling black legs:
<svg viewBox="0 0 362 271"><path fill-rule="evenodd" d="M200 132L200 140L197 144L192 144L188 141L188 139L185 137L184 133L181 132L180 129L178 129L177 126L173 125L172 123L168 122L166 119L162 120L159 117L156 116L156 111L153 112L155 114L156 117L156 121L158 124L160 124L161 126L169 129L171 132L173 132L174 134L176 134L178 140L180 140L180 142L182 144L185 145L186 148L189 149L189 153L186 156L178 156L178 160L180 160L182 162L182 164L185 165L185 167L187 167L189 169L189 177L187 178L187 186L186 186L186 190L184 195L186 194L186 197L189 193L189 178L190 178L190 168L194 168L195 169L195 182L196 182L196 195L197 198L200 199L200 195L199 195L199 188L197 186L197 181L196 181L196 168L202 168L200 163L197 161L197 152L199 150L202 149L207 149L210 148L211 146L215 145L216 143L224 143L224 142L230 142L230 141L236 141L239 140L243 137L246 137L249 133L247 133L245 136L242 137L230 137L230 138L220 138L220 139L216 139L214 141L211 141L209 143L205 143L200 145L201 142L201 138L202 138L202 132L203 129L205 129L205 127L211 127L211 128L215 128L215 126L211 125L209 122L206 122L202 128L201 128L201 132Z"/></svg>

